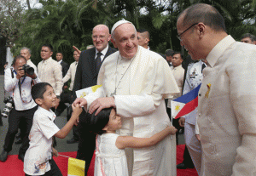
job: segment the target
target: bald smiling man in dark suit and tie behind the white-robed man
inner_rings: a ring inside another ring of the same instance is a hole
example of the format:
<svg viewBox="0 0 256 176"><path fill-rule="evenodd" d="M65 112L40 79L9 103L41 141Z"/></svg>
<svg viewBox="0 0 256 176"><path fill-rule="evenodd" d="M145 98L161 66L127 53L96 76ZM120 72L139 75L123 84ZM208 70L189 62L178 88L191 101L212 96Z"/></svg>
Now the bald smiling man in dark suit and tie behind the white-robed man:
<svg viewBox="0 0 256 176"><path fill-rule="evenodd" d="M75 94L77 90L96 85L102 62L108 55L116 51L108 46L110 38L108 26L97 25L93 28L92 41L95 48L84 50L80 54L73 87L73 101L77 98ZM86 175L96 146L96 134L90 133L90 126L84 118L85 113L83 111L79 116L79 149L77 158L85 161L84 173Z"/></svg>

